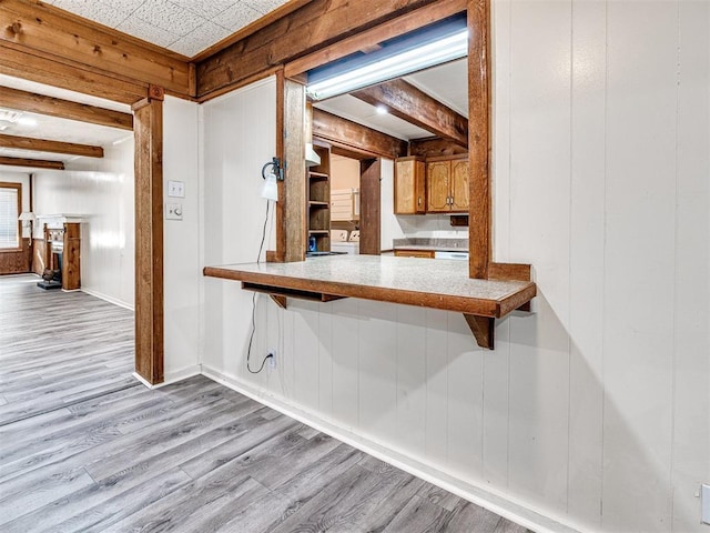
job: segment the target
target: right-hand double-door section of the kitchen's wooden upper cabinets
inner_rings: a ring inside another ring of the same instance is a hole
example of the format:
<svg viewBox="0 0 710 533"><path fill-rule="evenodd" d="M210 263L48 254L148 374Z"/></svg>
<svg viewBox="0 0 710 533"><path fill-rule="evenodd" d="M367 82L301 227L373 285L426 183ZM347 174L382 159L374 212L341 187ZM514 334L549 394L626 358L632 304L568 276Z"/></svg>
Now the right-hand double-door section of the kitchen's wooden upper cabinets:
<svg viewBox="0 0 710 533"><path fill-rule="evenodd" d="M426 163L427 213L468 211L468 157L436 158Z"/></svg>

